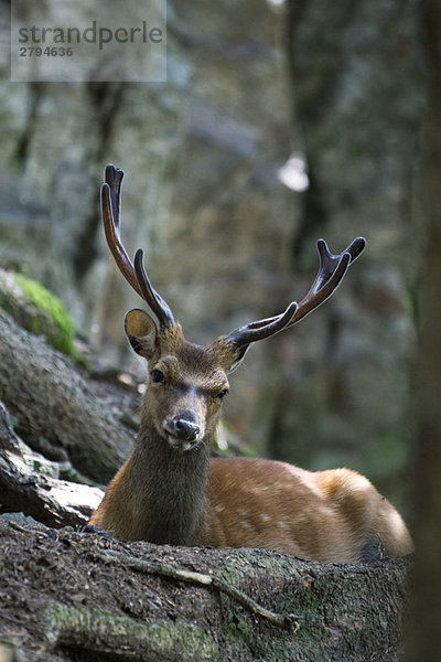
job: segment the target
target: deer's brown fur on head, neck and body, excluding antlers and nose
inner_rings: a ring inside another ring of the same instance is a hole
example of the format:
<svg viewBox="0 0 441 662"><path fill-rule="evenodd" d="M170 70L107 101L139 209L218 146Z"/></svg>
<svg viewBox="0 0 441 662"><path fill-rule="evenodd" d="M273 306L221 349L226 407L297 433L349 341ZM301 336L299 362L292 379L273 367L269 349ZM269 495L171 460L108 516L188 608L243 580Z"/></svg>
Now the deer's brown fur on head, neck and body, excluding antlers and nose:
<svg viewBox="0 0 441 662"><path fill-rule="evenodd" d="M142 311L129 313L126 328L132 346L165 381L149 385L135 449L90 524L130 541L263 547L322 562L412 551L398 512L354 471L313 473L263 459L211 460L218 394L240 357L223 338L208 348L189 343L179 324L159 334ZM164 433L164 420L182 413L203 430L190 450L173 448Z"/></svg>

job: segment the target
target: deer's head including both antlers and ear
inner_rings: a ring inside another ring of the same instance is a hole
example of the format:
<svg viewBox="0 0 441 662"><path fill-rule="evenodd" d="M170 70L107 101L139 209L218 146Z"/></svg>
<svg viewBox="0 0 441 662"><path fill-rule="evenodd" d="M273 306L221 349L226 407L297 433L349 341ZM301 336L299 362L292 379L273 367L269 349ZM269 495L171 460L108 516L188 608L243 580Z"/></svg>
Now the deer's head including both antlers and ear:
<svg viewBox="0 0 441 662"><path fill-rule="evenodd" d="M129 342L149 364L143 416L172 448L187 451L212 437L222 401L229 389L227 375L240 363L249 345L295 324L327 299L349 264L364 249L365 241L358 237L341 255L332 255L325 242L320 239L320 269L300 303L292 302L284 312L239 327L203 348L185 340L170 307L151 286L142 264L142 250L137 250L132 264L122 246L122 177L121 170L107 166L101 210L106 238L120 271L157 318L155 321L139 309L126 316Z"/></svg>

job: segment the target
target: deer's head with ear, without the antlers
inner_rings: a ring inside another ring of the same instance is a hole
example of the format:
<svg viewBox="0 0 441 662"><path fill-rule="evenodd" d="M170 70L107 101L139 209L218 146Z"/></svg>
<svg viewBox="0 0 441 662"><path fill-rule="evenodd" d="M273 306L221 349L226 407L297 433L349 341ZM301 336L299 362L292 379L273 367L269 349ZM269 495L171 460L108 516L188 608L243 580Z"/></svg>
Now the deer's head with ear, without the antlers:
<svg viewBox="0 0 441 662"><path fill-rule="evenodd" d="M225 367L229 357L222 342L208 348L189 343L179 324L160 334L140 310L128 313L126 331L149 363L143 416L173 449L197 448L215 431L229 388Z"/></svg>

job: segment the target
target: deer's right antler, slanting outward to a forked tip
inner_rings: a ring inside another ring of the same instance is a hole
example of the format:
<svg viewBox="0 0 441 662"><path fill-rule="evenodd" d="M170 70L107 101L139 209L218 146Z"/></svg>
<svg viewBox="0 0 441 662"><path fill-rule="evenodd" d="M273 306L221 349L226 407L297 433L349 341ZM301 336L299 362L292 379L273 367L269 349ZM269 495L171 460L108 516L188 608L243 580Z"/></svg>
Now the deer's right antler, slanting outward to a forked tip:
<svg viewBox="0 0 441 662"><path fill-rule="evenodd" d="M323 301L329 299L342 282L349 265L358 257L366 246L366 239L357 237L352 244L340 255L330 253L324 239L318 241L318 249L320 256L320 268L314 282L311 286L308 295L295 303L290 303L284 312L272 318L250 322L244 327L235 329L225 338L235 348L248 345L257 340L275 335L283 329L288 329L295 324L312 310L318 308Z"/></svg>

